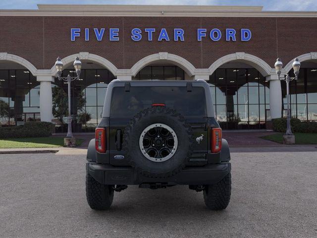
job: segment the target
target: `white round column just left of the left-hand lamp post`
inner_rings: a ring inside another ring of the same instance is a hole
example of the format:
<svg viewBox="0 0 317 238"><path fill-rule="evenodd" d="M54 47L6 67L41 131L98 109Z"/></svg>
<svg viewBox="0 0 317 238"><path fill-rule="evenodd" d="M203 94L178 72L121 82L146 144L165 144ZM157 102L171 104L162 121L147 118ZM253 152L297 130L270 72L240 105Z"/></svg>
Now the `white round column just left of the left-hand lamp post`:
<svg viewBox="0 0 317 238"><path fill-rule="evenodd" d="M51 75L38 75L37 81L40 82L41 121L52 122L52 119L53 119L52 82L54 82L54 77Z"/></svg>

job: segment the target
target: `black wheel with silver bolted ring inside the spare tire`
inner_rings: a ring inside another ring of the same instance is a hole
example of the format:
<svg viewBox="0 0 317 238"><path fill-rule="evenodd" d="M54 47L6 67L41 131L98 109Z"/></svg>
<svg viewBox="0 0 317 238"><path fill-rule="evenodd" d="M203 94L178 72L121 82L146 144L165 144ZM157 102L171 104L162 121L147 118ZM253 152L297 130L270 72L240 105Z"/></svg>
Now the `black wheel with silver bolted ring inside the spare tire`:
<svg viewBox="0 0 317 238"><path fill-rule="evenodd" d="M153 162L169 160L176 152L178 139L175 131L163 123L146 127L139 139L142 154Z"/></svg>

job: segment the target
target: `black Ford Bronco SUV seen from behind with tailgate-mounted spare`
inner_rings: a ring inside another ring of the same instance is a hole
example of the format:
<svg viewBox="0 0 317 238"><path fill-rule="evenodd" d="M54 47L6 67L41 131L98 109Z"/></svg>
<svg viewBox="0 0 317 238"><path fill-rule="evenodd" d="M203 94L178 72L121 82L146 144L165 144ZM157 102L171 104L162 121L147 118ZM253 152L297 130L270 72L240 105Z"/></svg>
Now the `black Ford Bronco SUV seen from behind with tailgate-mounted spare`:
<svg viewBox="0 0 317 238"><path fill-rule="evenodd" d="M186 184L204 192L208 208L225 209L231 194L229 161L206 81L115 79L88 146L87 201L92 209L105 210L114 191L127 185Z"/></svg>

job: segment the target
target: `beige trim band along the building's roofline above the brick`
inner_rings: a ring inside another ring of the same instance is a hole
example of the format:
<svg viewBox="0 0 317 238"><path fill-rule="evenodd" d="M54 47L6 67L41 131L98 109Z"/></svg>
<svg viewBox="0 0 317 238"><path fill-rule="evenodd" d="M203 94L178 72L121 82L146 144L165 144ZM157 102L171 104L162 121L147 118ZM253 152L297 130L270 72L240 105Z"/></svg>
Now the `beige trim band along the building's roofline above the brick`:
<svg viewBox="0 0 317 238"><path fill-rule="evenodd" d="M262 6L39 4L0 16L317 17L317 11L262 11Z"/></svg>

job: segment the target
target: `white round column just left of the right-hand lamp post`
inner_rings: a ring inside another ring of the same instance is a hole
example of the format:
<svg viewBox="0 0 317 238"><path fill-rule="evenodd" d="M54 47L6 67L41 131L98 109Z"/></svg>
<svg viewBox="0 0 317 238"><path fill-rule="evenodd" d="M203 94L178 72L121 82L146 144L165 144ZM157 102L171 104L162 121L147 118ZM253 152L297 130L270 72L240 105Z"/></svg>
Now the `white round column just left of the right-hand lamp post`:
<svg viewBox="0 0 317 238"><path fill-rule="evenodd" d="M271 118L281 118L282 116L282 89L281 81L277 75L266 76L266 81L269 81L269 108Z"/></svg>

